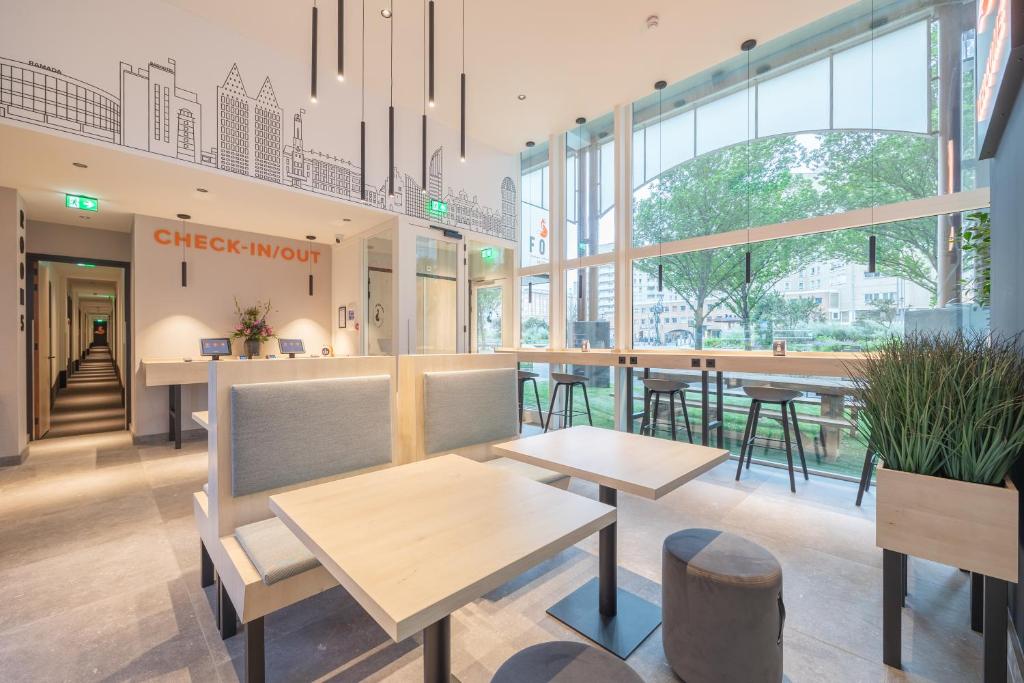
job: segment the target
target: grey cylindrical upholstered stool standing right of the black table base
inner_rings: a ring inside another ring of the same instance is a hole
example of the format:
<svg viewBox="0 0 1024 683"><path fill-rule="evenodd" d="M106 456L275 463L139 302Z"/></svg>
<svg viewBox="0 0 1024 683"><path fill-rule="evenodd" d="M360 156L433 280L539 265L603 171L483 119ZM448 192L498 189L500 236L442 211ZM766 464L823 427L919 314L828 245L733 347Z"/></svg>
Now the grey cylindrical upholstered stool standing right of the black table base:
<svg viewBox="0 0 1024 683"><path fill-rule="evenodd" d="M782 680L782 567L761 546L708 528L662 550L662 640L686 683Z"/></svg>

